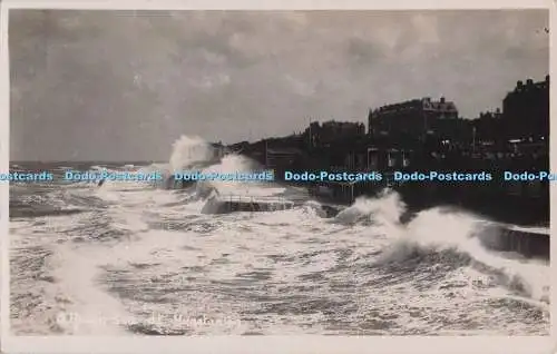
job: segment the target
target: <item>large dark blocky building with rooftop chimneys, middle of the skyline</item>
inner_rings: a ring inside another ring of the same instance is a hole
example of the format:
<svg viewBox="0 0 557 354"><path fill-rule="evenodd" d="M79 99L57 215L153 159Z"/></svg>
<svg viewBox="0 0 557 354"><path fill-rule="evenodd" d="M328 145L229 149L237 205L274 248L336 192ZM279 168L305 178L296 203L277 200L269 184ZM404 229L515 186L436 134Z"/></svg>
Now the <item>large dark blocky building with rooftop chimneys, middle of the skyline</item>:
<svg viewBox="0 0 557 354"><path fill-rule="evenodd" d="M446 101L444 97L439 101L426 97L370 109L368 132L373 137L389 136L394 140L400 138L421 140L428 132L444 130L447 121L457 119L458 110L455 102Z"/></svg>

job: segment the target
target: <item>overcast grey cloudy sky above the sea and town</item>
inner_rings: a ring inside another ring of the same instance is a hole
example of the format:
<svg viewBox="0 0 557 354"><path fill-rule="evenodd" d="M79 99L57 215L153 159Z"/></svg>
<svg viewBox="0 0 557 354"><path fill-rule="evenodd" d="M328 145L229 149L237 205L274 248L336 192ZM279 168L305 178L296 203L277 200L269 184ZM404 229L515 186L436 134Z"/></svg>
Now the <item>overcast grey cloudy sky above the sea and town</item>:
<svg viewBox="0 0 557 354"><path fill-rule="evenodd" d="M183 134L255 140L427 96L472 118L548 73L545 27L543 10L12 10L11 158L166 160Z"/></svg>

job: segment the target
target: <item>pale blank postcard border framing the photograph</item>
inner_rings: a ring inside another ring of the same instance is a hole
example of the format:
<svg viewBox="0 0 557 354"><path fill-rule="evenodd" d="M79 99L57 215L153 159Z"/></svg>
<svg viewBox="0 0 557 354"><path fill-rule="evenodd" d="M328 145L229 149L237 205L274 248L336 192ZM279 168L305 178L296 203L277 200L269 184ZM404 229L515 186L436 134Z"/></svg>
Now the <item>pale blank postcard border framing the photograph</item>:
<svg viewBox="0 0 557 354"><path fill-rule="evenodd" d="M9 170L9 9L149 9L149 10L410 10L410 9L550 9L550 29L556 24L555 2L550 0L4 0L0 3L0 166ZM556 36L550 30L550 76L555 72ZM554 105L557 91L550 86L550 116L557 117ZM555 131L555 132L554 132ZM550 124L550 167L557 167L557 124ZM555 158L554 158L555 156ZM556 200L557 187L551 184L550 199ZM9 276L9 187L0 184L1 266L1 337L3 353L489 353L546 354L557 353L557 318L551 316L551 336L14 336L10 334L10 276ZM551 208L551 235L557 208ZM557 257L557 244L551 243L551 259ZM551 262L551 287L557 284L557 272ZM551 313L557 306L557 294L551 292Z"/></svg>

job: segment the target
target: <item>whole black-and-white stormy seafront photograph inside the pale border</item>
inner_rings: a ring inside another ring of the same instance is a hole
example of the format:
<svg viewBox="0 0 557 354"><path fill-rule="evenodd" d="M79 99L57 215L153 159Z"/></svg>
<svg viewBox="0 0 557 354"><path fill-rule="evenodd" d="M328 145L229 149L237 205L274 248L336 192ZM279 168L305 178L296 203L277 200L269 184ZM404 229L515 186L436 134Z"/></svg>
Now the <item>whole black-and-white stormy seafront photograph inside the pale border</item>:
<svg viewBox="0 0 557 354"><path fill-rule="evenodd" d="M549 335L548 10L8 36L12 335Z"/></svg>

